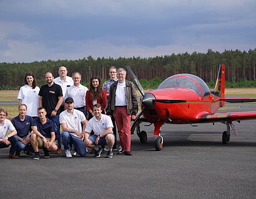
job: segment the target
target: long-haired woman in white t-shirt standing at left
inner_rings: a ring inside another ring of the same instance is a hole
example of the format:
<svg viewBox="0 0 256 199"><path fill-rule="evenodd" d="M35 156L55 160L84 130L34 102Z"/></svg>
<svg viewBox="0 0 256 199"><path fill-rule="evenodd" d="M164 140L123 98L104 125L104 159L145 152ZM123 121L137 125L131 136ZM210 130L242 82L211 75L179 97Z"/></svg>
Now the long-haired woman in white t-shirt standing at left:
<svg viewBox="0 0 256 199"><path fill-rule="evenodd" d="M37 86L36 78L33 73L26 73L24 83L26 85L21 86L19 89L19 99L20 104L27 105L27 115L32 117L37 117L37 108L39 108L39 90Z"/></svg>

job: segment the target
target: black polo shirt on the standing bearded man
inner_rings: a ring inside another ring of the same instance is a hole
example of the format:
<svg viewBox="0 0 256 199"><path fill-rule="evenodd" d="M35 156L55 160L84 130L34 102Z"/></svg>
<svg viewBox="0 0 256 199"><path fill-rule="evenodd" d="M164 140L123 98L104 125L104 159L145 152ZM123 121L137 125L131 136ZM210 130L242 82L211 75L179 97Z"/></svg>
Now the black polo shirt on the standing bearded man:
<svg viewBox="0 0 256 199"><path fill-rule="evenodd" d="M43 85L40 88L38 95L42 97L42 107L46 109L47 114L51 114L59 101L59 96L62 96L62 88L56 83L50 87L48 85ZM60 113L61 111L59 109L57 114Z"/></svg>

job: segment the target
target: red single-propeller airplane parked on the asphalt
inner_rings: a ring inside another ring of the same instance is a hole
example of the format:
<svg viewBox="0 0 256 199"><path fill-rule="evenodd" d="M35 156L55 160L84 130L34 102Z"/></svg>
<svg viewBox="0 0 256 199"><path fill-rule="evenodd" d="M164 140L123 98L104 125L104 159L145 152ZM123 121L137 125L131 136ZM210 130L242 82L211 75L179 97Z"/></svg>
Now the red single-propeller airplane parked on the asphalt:
<svg viewBox="0 0 256 199"><path fill-rule="evenodd" d="M207 84L198 76L192 74L172 75L165 79L156 90L144 93L139 80L132 72L129 65L126 65L135 85L142 97L140 105L142 111L132 124L131 133L135 128L140 142L147 142L147 133L140 131L140 123L147 122L154 124L155 149L162 150L164 138L160 136L160 127L164 123L169 124L195 124L195 123L224 123L227 130L222 134L223 144L230 140L230 127L236 136L232 121L245 119L256 119L256 111L246 112L225 112L215 113L217 109L229 103L255 102L250 98L225 98L225 65L219 66L219 72L213 91L210 91ZM193 125L192 125L193 126Z"/></svg>

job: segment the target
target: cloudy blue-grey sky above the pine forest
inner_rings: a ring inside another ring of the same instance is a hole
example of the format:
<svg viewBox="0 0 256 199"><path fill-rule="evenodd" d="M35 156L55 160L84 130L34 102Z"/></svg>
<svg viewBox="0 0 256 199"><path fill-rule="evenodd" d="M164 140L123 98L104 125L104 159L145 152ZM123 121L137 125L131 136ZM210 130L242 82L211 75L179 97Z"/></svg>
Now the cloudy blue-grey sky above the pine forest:
<svg viewBox="0 0 256 199"><path fill-rule="evenodd" d="M0 0L0 62L256 48L255 0Z"/></svg>

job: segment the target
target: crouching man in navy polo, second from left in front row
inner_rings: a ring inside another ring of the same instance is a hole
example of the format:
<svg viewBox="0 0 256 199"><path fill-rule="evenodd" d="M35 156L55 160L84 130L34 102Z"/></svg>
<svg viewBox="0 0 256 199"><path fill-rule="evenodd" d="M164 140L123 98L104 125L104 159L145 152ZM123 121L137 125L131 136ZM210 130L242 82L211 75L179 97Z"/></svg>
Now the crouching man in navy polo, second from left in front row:
<svg viewBox="0 0 256 199"><path fill-rule="evenodd" d="M26 150L27 155L31 155L28 145L30 143L29 133L32 131L33 119L31 116L27 116L27 105L19 105L19 115L12 118L11 122L17 131L17 137L19 141L17 142L16 155L21 155L21 150Z"/></svg>

